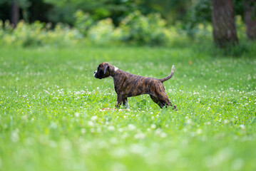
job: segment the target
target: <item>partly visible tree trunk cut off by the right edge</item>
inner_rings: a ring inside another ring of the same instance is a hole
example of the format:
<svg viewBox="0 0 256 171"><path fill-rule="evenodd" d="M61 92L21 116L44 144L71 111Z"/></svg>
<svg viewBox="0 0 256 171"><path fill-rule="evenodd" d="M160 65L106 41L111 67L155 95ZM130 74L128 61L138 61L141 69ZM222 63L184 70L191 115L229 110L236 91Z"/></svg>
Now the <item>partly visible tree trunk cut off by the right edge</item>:
<svg viewBox="0 0 256 171"><path fill-rule="evenodd" d="M245 0L245 24L247 37L256 40L256 0Z"/></svg>

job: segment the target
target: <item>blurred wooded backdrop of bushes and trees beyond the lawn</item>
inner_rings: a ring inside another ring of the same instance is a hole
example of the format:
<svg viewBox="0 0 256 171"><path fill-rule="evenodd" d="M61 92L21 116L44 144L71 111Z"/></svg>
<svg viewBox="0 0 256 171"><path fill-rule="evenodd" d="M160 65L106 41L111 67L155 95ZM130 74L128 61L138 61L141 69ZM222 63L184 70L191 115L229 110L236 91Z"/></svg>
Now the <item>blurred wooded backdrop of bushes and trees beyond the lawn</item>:
<svg viewBox="0 0 256 171"><path fill-rule="evenodd" d="M233 46L255 40L255 4L255 0L0 0L0 43L165 46L207 40L222 48L226 41Z"/></svg>

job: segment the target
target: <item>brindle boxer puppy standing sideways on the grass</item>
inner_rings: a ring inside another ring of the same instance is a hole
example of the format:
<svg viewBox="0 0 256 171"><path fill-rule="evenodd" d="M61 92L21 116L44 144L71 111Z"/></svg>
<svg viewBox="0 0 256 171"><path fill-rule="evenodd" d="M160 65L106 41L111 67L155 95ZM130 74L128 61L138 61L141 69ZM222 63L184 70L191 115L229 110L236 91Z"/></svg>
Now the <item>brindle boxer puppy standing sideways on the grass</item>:
<svg viewBox="0 0 256 171"><path fill-rule="evenodd" d="M165 78L156 79L148 78L143 76L136 76L131 73L126 73L111 64L104 62L98 66L98 70L94 72L95 78L107 78L109 76L113 77L114 87L118 95L116 101L116 108L118 108L121 103L123 105L128 105L128 97L149 94L153 102L157 103L160 108L164 106L167 108L168 105L173 106L176 110L176 105L172 105L170 100L165 93L165 88L163 87L163 82L169 80L174 73L174 66L170 76Z"/></svg>

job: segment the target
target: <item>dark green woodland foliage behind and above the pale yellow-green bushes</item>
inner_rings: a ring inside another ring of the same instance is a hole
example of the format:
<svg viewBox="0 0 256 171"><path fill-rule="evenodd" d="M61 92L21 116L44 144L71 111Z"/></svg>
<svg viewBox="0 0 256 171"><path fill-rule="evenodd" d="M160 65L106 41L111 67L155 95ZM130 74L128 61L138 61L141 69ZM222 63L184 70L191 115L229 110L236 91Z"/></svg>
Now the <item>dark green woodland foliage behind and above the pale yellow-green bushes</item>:
<svg viewBox="0 0 256 171"><path fill-rule="evenodd" d="M76 25L73 14L77 10L83 11L93 21L111 18L113 24L118 26L121 21L133 11L140 11L143 15L158 13L168 25L177 23L183 24L183 29L189 36L197 32L196 26L201 23L211 22L211 1L209 0L16 0L22 9L21 19L34 22L41 20L51 22L55 25L58 22ZM13 0L0 0L0 19L9 19ZM235 14L245 14L245 1L234 0ZM250 1L250 5L255 5ZM35 10L36 9L36 10Z"/></svg>

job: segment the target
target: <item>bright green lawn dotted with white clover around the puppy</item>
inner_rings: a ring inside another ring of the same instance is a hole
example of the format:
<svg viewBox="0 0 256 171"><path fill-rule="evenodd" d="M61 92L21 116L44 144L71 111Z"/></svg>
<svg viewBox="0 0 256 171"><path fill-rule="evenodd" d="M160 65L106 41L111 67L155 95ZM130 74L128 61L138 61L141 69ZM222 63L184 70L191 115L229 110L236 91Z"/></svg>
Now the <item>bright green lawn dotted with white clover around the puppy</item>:
<svg viewBox="0 0 256 171"><path fill-rule="evenodd" d="M201 49L201 50L200 50ZM256 170L256 59L196 48L0 48L0 170ZM148 95L114 108L108 61L163 78L178 111Z"/></svg>

